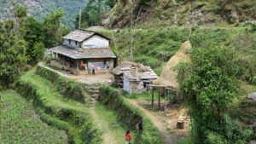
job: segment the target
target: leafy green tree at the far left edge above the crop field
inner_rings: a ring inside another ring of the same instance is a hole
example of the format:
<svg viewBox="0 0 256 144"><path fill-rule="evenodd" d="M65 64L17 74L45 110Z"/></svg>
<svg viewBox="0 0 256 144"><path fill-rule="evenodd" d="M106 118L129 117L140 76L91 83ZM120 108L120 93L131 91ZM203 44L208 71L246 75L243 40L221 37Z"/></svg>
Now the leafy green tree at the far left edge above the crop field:
<svg viewBox="0 0 256 144"><path fill-rule="evenodd" d="M15 21L0 23L0 87L9 87L26 66L25 41L16 37Z"/></svg>

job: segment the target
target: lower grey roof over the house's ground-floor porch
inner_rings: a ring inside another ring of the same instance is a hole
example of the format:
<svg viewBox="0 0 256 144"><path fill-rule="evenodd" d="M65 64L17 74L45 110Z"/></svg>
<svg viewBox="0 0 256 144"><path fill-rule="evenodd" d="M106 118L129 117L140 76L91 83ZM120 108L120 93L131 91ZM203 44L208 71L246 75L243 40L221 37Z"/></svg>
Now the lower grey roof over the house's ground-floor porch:
<svg viewBox="0 0 256 144"><path fill-rule="evenodd" d="M61 44L49 50L57 54L66 55L73 59L116 58L112 49L109 48L74 49Z"/></svg>

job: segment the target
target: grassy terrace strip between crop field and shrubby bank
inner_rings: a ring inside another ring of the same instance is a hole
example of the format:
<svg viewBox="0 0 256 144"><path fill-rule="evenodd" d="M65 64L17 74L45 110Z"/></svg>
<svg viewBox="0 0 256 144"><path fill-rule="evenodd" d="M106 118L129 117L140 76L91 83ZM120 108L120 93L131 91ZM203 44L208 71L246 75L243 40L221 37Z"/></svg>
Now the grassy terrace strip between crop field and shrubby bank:
<svg viewBox="0 0 256 144"><path fill-rule="evenodd" d="M102 132L88 114L88 107L61 95L48 80L35 70L28 71L16 83L20 95L32 101L42 120L65 130L72 143L101 143Z"/></svg>

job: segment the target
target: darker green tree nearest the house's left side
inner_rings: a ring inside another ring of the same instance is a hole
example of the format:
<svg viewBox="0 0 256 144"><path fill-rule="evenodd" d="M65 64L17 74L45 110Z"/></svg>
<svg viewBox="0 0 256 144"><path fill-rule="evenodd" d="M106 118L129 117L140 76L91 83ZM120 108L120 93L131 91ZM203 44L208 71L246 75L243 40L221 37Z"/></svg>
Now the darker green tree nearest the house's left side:
<svg viewBox="0 0 256 144"><path fill-rule="evenodd" d="M61 24L62 15L61 9L57 9L55 12L47 14L43 22L35 20L33 17L26 18L24 39L28 47L26 54L29 57L30 65L35 65L39 61L35 56L35 52L38 52L35 49L35 43L44 43L45 48L51 48L57 43L61 43L61 37L70 32L67 26Z"/></svg>

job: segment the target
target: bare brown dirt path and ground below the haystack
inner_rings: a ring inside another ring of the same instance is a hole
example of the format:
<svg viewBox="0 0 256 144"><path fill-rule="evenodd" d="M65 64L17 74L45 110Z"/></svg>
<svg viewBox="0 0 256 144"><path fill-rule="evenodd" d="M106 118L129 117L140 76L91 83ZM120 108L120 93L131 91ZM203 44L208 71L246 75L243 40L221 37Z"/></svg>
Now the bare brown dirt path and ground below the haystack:
<svg viewBox="0 0 256 144"><path fill-rule="evenodd" d="M127 101L130 101L135 107L139 107L149 118L151 118L154 125L163 135L166 144L177 143L179 137L189 135L190 119L187 116L187 110L185 108L172 107L167 108L166 112L158 112L156 111L156 104L151 108L151 103L149 101L137 101L131 99L127 99ZM184 121L184 130L177 130L177 121L181 119Z"/></svg>

